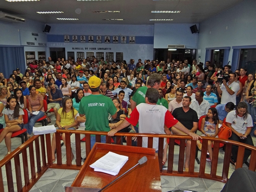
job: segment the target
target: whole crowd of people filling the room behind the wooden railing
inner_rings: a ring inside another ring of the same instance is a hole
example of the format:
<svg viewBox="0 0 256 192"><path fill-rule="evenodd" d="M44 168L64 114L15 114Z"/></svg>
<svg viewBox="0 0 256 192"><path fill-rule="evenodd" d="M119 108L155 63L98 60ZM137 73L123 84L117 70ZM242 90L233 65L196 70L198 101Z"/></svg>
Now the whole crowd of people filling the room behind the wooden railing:
<svg viewBox="0 0 256 192"><path fill-rule="evenodd" d="M217 137L218 125L226 118L232 130L230 140L253 145L256 134L256 80L241 68L234 73L231 66L215 66L209 61L197 64L193 60L167 61L131 59L111 61L92 57L77 61L58 58L54 63L35 61L24 74L19 69L6 79L0 73L0 142L5 139L8 154L11 152L12 132L26 128L28 137L39 119L47 112L56 117L58 129L88 131L117 131L190 135L192 139L201 128L202 136ZM47 109L44 103L47 102ZM143 105L142 105L143 104ZM28 111L29 123L23 125L23 110ZM158 110L157 114L151 111ZM35 113L36 112L36 113ZM160 116L159 116L160 115ZM198 120L201 116L201 125ZM100 121L96 118L99 117ZM140 126L139 126L139 124ZM81 135L81 139L84 135ZM63 137L64 144L65 138ZM115 140L115 138L114 138ZM105 137L102 137L102 142ZM95 137L91 137L91 147ZM201 143L197 141L198 148ZM136 139L133 140L136 145ZM74 136L71 146L76 149ZM143 140L143 146L146 141ZM191 140L186 141L185 171L189 169ZM158 149L154 140L153 147ZM167 141L163 165L167 160ZM212 142L208 143L209 160L212 159ZM55 161L55 135L52 138L52 160ZM85 155L85 148L81 148ZM236 164L238 148L232 148L232 163ZM244 162L250 156L245 150ZM85 158L85 157L83 157Z"/></svg>

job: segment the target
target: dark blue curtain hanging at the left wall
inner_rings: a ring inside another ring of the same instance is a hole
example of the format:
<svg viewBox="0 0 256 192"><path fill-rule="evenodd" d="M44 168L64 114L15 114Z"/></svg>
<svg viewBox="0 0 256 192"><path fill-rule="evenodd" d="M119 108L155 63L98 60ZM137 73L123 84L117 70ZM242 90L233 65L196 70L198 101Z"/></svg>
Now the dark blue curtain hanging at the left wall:
<svg viewBox="0 0 256 192"><path fill-rule="evenodd" d="M26 64L24 47L0 47L0 72L9 79L13 70L20 69L25 73Z"/></svg>

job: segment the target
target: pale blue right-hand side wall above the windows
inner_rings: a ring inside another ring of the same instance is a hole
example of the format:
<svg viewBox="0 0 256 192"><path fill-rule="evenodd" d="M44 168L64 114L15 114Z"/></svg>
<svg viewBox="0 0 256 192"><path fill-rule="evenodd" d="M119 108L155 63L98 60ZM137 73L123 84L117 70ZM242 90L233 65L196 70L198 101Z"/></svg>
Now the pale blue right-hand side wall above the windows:
<svg viewBox="0 0 256 192"><path fill-rule="evenodd" d="M198 56L205 61L207 47L231 47L228 61L232 61L233 46L256 45L256 1L243 2L199 23Z"/></svg>

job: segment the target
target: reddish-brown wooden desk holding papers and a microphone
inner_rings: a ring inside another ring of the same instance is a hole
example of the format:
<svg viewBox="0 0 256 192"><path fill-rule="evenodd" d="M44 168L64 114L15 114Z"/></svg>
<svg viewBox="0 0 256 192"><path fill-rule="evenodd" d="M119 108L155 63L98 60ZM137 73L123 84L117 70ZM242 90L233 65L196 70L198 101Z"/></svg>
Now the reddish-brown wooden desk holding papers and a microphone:
<svg viewBox="0 0 256 192"><path fill-rule="evenodd" d="M129 157L128 161L116 176L102 172L94 172L89 166L109 151ZM115 183L108 186L104 192L161 192L160 171L155 149L104 143L96 143L93 146L93 149L90 151L90 154L86 158L84 165L71 186L101 189L136 165L138 160L143 156L148 158L146 163L136 166L123 177L116 180Z"/></svg>

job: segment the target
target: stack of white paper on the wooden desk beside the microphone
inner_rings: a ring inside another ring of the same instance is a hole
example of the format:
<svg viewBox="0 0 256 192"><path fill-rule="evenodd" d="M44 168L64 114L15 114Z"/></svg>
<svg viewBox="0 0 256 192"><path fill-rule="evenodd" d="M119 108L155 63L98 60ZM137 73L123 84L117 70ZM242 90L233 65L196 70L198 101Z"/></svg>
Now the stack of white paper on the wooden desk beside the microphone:
<svg viewBox="0 0 256 192"><path fill-rule="evenodd" d="M96 160L93 164L90 165L91 168L96 172L108 173L110 175L117 175L128 161L128 157L124 155L119 155L113 152L108 152L99 160Z"/></svg>

